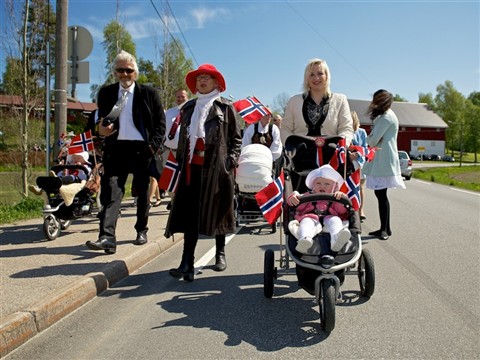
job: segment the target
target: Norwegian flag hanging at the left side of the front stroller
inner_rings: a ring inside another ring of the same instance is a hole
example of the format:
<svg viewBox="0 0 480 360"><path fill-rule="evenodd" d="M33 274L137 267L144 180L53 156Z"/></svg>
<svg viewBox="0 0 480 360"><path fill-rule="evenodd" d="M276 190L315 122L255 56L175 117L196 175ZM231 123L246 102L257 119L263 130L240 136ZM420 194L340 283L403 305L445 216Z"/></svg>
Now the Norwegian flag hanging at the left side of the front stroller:
<svg viewBox="0 0 480 360"><path fill-rule="evenodd" d="M285 183L283 169L280 176L255 194L257 204L267 222L272 225L282 214L283 185Z"/></svg>

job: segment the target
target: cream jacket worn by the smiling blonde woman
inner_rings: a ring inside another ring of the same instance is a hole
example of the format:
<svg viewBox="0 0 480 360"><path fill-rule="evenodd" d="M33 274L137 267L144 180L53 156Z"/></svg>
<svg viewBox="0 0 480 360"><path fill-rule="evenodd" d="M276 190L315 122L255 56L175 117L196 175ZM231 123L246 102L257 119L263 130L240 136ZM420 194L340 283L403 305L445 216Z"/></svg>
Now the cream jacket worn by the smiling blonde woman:
<svg viewBox="0 0 480 360"><path fill-rule="evenodd" d="M294 95L288 100L285 115L280 128L282 143L290 135L307 135L308 127L303 119L303 94ZM347 146L353 139L353 120L350 113L347 97L343 94L332 94L328 108L327 118L322 124L323 136L342 136L346 139Z"/></svg>

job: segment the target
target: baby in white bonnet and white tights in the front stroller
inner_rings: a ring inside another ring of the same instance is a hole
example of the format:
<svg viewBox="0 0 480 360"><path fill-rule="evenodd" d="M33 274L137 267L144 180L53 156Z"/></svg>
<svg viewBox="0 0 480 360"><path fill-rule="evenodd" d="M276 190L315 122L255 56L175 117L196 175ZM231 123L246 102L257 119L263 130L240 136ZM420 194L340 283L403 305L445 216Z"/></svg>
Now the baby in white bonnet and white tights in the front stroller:
<svg viewBox="0 0 480 360"><path fill-rule="evenodd" d="M298 206L294 215L295 219L288 224L290 233L298 239L295 250L308 255L314 245L314 237L322 231L323 227L330 233L332 251L340 251L348 242L351 233L343 224L343 220L347 216L347 209L341 203L320 200L300 204L300 197L309 193L333 194L335 199L340 199L343 193L339 189L343 182L342 176L327 164L308 174L305 180L310 189L308 193L300 194L298 191L294 191L290 194L287 199L288 205Z"/></svg>

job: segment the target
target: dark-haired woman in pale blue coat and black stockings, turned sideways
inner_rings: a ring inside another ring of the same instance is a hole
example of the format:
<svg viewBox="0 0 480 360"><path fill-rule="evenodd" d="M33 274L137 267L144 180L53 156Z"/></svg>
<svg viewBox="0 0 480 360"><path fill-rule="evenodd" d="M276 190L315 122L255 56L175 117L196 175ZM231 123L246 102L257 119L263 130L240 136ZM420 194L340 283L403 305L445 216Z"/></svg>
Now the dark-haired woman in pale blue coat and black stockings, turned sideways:
<svg viewBox="0 0 480 360"><path fill-rule="evenodd" d="M373 160L363 166L366 175L365 185L368 189L374 190L380 215L380 229L370 232L369 235L381 240L387 240L392 235L387 190L405 188L398 159L398 119L390 109L392 104L393 95L387 90L381 89L373 94L368 107L373 128L367 137L367 144L370 147L377 147L377 150Z"/></svg>

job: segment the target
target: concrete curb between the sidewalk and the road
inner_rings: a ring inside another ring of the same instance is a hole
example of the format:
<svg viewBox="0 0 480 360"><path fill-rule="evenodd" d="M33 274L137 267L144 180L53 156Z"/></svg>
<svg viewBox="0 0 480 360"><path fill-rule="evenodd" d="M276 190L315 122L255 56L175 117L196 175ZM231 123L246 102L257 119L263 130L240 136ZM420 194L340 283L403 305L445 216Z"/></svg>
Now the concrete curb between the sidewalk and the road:
<svg viewBox="0 0 480 360"><path fill-rule="evenodd" d="M149 263L182 237L150 241L123 260L115 260L100 272L89 273L72 284L55 290L40 301L15 312L0 323L0 358L38 333L75 311L111 285Z"/></svg>

